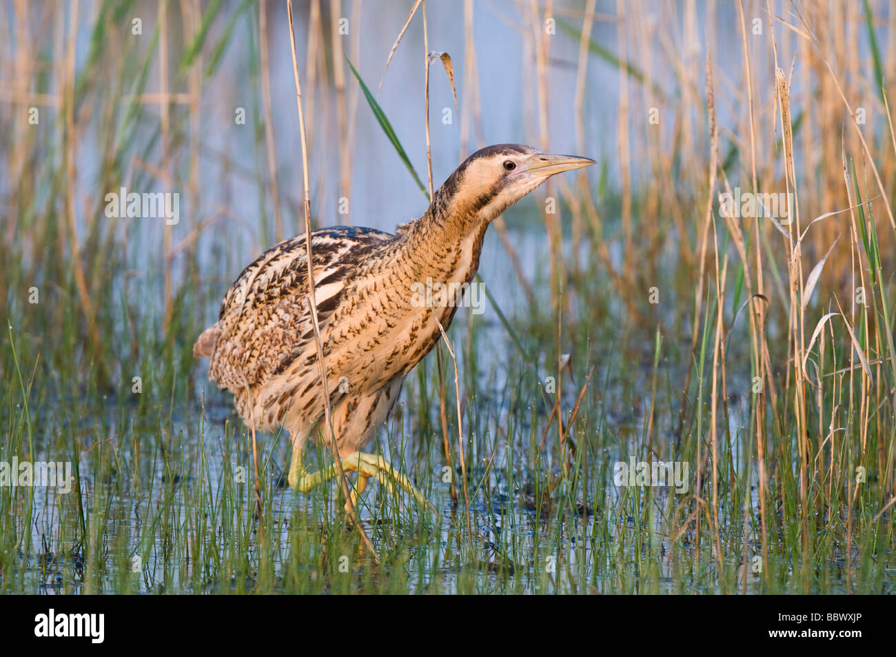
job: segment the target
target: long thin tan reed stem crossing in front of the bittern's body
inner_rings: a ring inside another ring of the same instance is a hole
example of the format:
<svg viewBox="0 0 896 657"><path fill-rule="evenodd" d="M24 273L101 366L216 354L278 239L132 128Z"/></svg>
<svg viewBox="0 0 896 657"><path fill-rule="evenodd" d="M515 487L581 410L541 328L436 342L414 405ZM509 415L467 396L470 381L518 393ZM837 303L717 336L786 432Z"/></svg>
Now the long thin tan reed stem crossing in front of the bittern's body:
<svg viewBox="0 0 896 657"><path fill-rule="evenodd" d="M323 343L321 341L321 331L320 326L317 323L317 302L314 298L314 260L312 259L313 254L311 251L311 195L309 193L308 184L308 144L305 134L305 113L302 110L302 86L298 80L298 64L296 60L296 35L292 26L292 0L289 0L289 2L287 3L287 11L289 13L289 46L292 51L292 72L296 82L298 129L302 142L302 180L305 185L305 245L308 268L307 304L309 309L311 310L311 319L312 323L314 324L314 343L317 347L317 370L321 377L321 385L323 387L323 413L327 425L326 431L330 433L330 451L332 454L333 462L336 463L336 471L339 472L339 480L342 485L342 493L346 498L346 506L348 506L349 518L355 524L355 526L358 527L358 532L361 535L361 540L364 542L366 548L370 550L370 553L374 557L374 561L379 564L379 555L376 554L376 550L374 549L373 544L370 542L370 539L367 537L364 528L361 526L361 523L359 522L358 511L354 503L352 502L351 495L349 493L349 480L345 476L345 471L342 470L342 461L339 455L339 448L336 445L336 433L333 431L332 425L330 390L329 385L327 385L328 382L326 364L323 362Z"/></svg>

